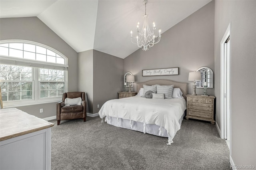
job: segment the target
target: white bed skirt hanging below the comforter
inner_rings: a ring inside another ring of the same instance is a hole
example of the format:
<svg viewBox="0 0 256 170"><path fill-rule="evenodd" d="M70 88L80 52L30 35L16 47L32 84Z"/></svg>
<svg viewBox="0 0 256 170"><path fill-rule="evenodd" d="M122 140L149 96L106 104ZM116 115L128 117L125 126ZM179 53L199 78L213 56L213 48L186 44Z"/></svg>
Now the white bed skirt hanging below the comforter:
<svg viewBox="0 0 256 170"><path fill-rule="evenodd" d="M179 119L180 126L183 121L183 117L185 117L185 115L186 114L184 112L184 114ZM136 130L139 132L153 134L161 137L170 137L168 136L167 131L164 127L160 127L154 124L146 124L146 123L136 122L136 121L122 119L122 118L110 117L110 116L105 117L105 122L116 127L127 128L127 129Z"/></svg>

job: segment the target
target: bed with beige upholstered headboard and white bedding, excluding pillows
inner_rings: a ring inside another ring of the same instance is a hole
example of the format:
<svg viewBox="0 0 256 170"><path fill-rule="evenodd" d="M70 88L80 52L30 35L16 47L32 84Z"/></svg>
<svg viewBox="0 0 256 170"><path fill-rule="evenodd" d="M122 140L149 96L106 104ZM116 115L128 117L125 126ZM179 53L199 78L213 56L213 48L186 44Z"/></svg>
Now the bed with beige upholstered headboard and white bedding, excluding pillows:
<svg viewBox="0 0 256 170"><path fill-rule="evenodd" d="M187 83L166 79L137 83L138 94L142 94L143 85L174 85L173 88L179 88L182 96L173 99L133 96L107 101L99 111L102 123L168 137L167 144L170 145L185 116Z"/></svg>

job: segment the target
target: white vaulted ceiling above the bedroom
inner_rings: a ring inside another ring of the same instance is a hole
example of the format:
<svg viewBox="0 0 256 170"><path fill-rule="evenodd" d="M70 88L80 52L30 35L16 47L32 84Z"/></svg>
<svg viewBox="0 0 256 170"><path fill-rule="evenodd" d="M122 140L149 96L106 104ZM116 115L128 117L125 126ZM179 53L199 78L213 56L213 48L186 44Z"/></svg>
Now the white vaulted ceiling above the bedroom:
<svg viewBox="0 0 256 170"><path fill-rule="evenodd" d="M148 0L148 22L163 33L210 1ZM120 58L138 49L130 31L143 23L144 10L142 0L0 0L0 18L36 16L77 52Z"/></svg>

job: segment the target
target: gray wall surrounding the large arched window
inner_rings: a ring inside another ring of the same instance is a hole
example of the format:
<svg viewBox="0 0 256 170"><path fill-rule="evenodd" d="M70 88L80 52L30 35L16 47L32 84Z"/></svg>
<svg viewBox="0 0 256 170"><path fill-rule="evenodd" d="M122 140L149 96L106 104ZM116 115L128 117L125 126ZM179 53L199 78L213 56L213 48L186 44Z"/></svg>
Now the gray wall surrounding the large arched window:
<svg viewBox="0 0 256 170"><path fill-rule="evenodd" d="M37 17L0 18L0 40L29 40L48 45L68 57L68 91L78 90L77 52ZM56 116L56 103L17 107L39 118ZM39 113L39 109L44 109Z"/></svg>

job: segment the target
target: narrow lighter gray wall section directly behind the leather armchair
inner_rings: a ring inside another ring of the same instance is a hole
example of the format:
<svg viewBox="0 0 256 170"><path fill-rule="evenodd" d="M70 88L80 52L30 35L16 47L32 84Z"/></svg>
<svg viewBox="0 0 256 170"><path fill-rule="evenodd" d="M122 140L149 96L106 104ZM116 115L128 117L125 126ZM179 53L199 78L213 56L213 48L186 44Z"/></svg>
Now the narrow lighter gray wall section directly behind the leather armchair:
<svg viewBox="0 0 256 170"><path fill-rule="evenodd" d="M93 50L78 53L78 91L87 95L87 113L93 112Z"/></svg>

